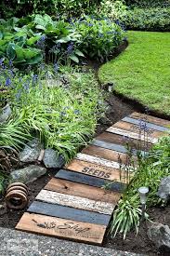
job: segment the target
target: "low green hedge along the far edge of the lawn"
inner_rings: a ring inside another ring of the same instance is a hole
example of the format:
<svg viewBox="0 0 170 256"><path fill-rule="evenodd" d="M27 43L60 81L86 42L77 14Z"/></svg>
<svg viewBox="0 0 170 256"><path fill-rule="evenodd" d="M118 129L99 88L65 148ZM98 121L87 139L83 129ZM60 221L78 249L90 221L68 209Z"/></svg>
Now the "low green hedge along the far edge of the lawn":
<svg viewBox="0 0 170 256"><path fill-rule="evenodd" d="M134 7L127 11L122 21L130 30L170 31L170 7Z"/></svg>

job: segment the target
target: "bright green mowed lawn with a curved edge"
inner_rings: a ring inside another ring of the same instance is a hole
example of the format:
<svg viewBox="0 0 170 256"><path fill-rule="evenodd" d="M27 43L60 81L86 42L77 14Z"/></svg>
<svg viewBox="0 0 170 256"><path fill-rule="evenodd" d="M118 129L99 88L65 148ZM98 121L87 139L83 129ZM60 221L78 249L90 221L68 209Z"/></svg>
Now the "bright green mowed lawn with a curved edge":
<svg viewBox="0 0 170 256"><path fill-rule="evenodd" d="M129 46L98 71L103 83L150 110L170 115L170 33L128 32Z"/></svg>

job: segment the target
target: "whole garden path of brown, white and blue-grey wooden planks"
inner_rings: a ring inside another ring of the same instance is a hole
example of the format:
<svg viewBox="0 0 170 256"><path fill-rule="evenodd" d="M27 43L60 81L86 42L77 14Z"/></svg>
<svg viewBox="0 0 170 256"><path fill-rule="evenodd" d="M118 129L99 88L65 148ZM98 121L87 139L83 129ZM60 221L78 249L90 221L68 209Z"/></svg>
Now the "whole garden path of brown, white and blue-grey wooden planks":
<svg viewBox="0 0 170 256"><path fill-rule="evenodd" d="M98 135L71 163L60 169L36 196L23 214L16 229L45 236L56 236L85 243L101 244L111 214L124 188L133 178L125 170L128 138L137 166L137 147L145 155L147 145L167 134L170 121L133 113ZM120 170L121 158L123 170ZM109 185L107 189L104 187Z"/></svg>

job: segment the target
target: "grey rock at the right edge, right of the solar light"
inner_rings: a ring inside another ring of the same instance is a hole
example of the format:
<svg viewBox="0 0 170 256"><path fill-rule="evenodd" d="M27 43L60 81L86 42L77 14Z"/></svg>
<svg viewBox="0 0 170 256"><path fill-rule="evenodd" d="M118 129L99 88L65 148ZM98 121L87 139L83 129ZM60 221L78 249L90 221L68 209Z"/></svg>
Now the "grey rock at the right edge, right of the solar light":
<svg viewBox="0 0 170 256"><path fill-rule="evenodd" d="M170 176L161 180L157 195L165 201L168 199L170 195Z"/></svg>

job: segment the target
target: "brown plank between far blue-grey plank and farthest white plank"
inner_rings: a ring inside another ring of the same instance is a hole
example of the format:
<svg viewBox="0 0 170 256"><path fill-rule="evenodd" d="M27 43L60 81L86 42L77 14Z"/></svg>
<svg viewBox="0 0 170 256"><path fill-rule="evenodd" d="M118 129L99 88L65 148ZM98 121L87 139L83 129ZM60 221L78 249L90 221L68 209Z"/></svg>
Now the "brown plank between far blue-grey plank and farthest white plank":
<svg viewBox="0 0 170 256"><path fill-rule="evenodd" d="M119 122L115 123L112 127L113 128L122 128L124 130L128 130L128 131L135 132L135 133L139 134L139 127L132 123L119 121ZM142 133L143 133L143 131L142 131ZM150 133L151 138L156 138L156 139L159 139L160 137L163 137L163 135L164 135L164 133L162 131L158 131L158 130L154 130L154 129L150 129L149 133Z"/></svg>

